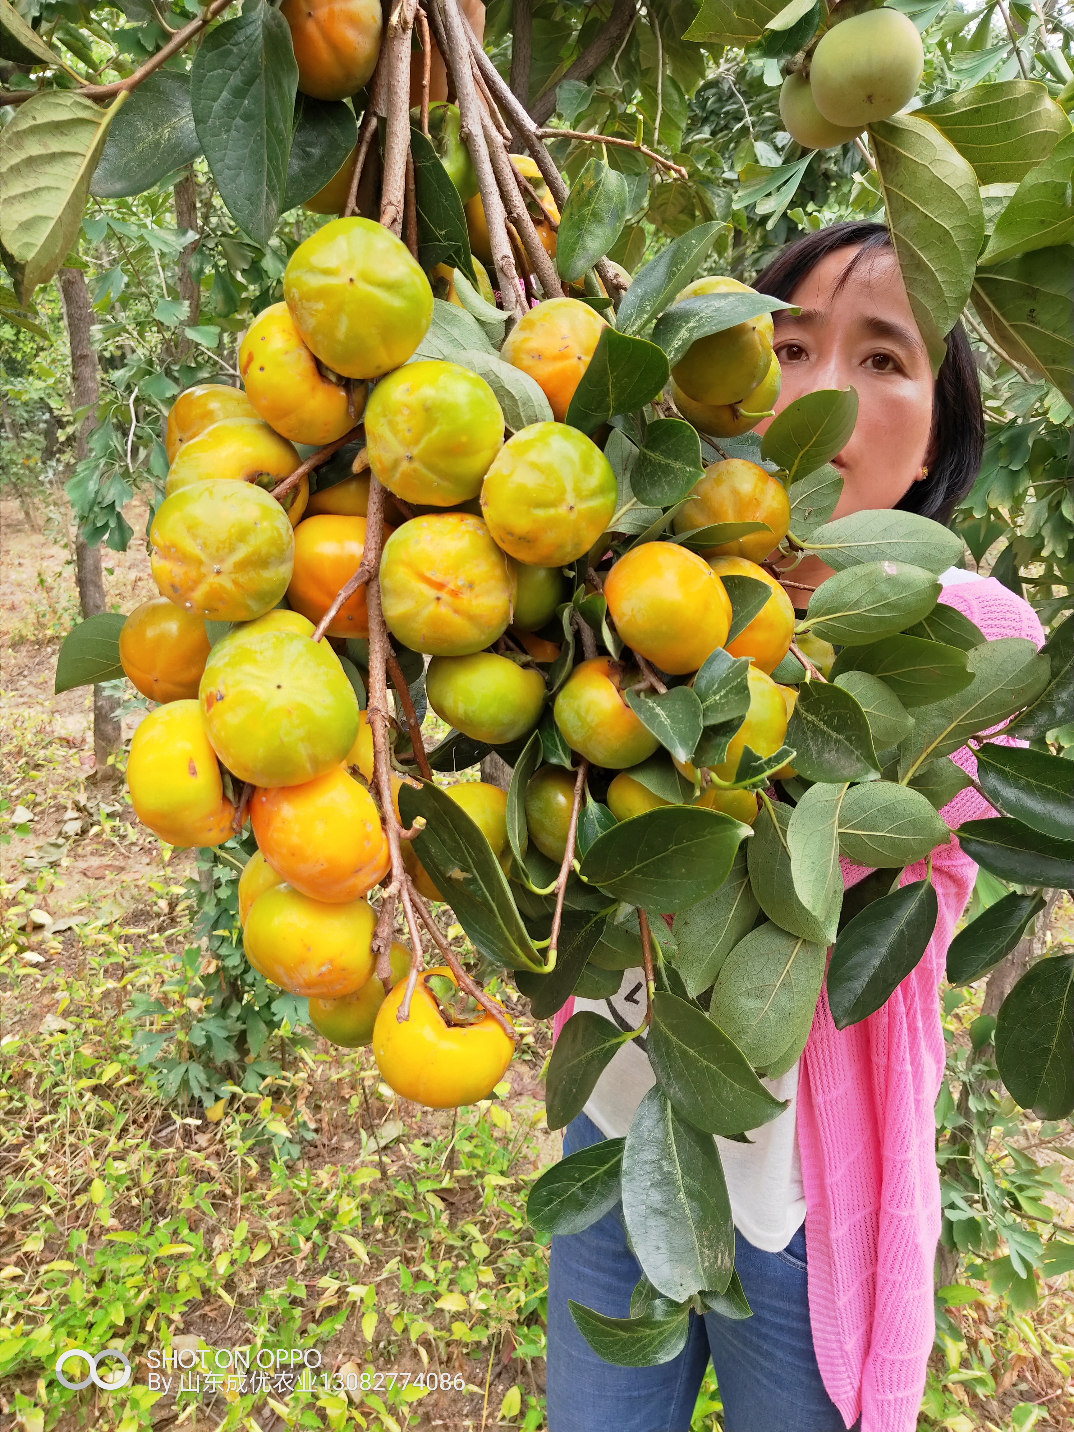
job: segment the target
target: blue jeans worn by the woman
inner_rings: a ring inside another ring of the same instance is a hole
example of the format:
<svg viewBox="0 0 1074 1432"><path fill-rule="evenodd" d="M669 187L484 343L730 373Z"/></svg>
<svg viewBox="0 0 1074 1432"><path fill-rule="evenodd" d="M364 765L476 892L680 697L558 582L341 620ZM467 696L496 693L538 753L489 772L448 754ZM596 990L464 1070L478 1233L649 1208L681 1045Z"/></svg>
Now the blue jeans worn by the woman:
<svg viewBox="0 0 1074 1432"><path fill-rule="evenodd" d="M579 1114L567 1126L563 1151L603 1137ZM672 1362L617 1368L589 1346L567 1299L613 1317L630 1316L642 1269L627 1249L623 1206L581 1233L556 1236L548 1273L548 1432L689 1432L710 1358L727 1432L845 1432L813 1352L805 1226L780 1253L763 1253L736 1233L735 1266L752 1317L690 1313L686 1346Z"/></svg>

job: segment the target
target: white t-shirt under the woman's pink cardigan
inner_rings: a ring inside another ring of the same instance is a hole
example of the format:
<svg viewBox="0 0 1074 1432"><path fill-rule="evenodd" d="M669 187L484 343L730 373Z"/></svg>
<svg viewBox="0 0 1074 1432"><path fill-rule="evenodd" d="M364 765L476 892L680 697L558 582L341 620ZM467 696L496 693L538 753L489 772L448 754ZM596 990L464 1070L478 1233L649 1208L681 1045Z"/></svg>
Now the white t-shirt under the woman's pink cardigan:
<svg viewBox="0 0 1074 1432"><path fill-rule="evenodd" d="M951 587L964 581L981 581L981 577L975 571L948 567L939 580ZM627 969L619 991L609 1000L576 1000L574 1008L596 1010L620 1028L636 1030L646 1011L644 977L640 969ZM626 1136L637 1106L656 1083L644 1050L639 1048L643 1044L644 1035L639 1035L617 1051L586 1104L586 1114L607 1138ZM785 1249L805 1223L806 1201L798 1148L799 1063L779 1078L762 1080L776 1098L786 1098L789 1104L776 1118L750 1131L750 1144L716 1138L735 1227L766 1253Z"/></svg>

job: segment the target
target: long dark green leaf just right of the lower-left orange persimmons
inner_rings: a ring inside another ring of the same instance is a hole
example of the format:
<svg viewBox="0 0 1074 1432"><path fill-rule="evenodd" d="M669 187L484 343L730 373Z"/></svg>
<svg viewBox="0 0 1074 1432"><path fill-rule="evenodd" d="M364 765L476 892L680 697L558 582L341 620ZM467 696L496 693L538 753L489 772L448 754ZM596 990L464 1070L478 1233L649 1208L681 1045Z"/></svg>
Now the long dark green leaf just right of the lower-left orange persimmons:
<svg viewBox="0 0 1074 1432"><path fill-rule="evenodd" d="M425 818L425 829L412 842L412 849L437 889L447 896L474 948L497 969L543 974L541 958L514 906L507 876L481 828L432 782L421 789L401 786L400 813L405 825Z"/></svg>

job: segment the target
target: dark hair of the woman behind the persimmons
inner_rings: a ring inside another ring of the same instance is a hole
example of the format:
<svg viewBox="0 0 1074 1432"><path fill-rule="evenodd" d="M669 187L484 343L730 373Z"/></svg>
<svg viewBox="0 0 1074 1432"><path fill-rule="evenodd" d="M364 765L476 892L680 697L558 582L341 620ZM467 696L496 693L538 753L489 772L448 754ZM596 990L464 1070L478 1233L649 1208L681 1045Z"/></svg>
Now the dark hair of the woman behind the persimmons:
<svg viewBox="0 0 1074 1432"><path fill-rule="evenodd" d="M790 298L821 259L836 249L858 249L843 274L879 249L891 248L882 223L832 223L789 243L753 281L759 294ZM932 434L928 477L914 483L895 504L904 513L921 513L948 523L961 497L974 485L984 451L981 382L969 339L961 324L947 335L947 357L932 390Z"/></svg>

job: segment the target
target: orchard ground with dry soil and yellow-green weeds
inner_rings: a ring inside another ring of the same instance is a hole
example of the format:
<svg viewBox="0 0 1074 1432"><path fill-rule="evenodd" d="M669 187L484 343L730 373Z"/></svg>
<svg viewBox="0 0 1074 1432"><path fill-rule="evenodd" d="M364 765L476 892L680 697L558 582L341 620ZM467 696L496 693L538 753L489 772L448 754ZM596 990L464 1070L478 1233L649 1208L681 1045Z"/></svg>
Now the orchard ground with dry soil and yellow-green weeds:
<svg viewBox="0 0 1074 1432"><path fill-rule="evenodd" d="M560 1153L538 1080L548 1027L501 987L518 1055L497 1097L457 1118L397 1098L368 1051L316 1037L308 1051L275 1037L281 1075L222 1117L169 1103L136 1065L132 997L180 1021L199 1008L200 957L182 959L196 944L195 861L135 821L119 773L95 772L89 690L52 695L79 619L73 531L63 501L33 516L40 531L17 503L0 507L0 1411L23 1432L544 1428L547 1247L524 1200ZM123 611L155 594L145 510L126 516L129 551L103 554L109 606ZM453 938L465 948L458 927ZM1070 899L1053 938L1074 938ZM955 1050L982 990L947 1001ZM1074 1229L1074 1147L1031 1120L1008 1143L1055 1170L1051 1211ZM278 1157L284 1146L298 1157ZM1044 1285L1028 1313L958 1282L967 1300L945 1313L921 1426L1074 1429L1074 1274ZM215 1349L316 1349L318 1378L358 1385L349 1398L286 1378L246 1392L226 1379L178 1395L178 1379L160 1395L64 1392L14 1342L44 1319L62 1346L90 1350L137 1327L136 1389L169 1345L208 1349L209 1365ZM415 1385L431 1373L454 1385ZM723 1426L710 1380L693 1426Z"/></svg>

